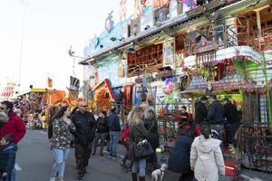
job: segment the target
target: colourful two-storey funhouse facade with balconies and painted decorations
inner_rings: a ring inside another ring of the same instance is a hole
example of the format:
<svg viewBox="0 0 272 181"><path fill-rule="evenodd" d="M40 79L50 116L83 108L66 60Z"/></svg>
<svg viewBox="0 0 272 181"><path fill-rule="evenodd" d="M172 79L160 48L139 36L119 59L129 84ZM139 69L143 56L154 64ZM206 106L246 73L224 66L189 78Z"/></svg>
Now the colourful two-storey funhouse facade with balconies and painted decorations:
<svg viewBox="0 0 272 181"><path fill-rule="evenodd" d="M86 65L90 102L96 89L97 95L102 92L97 100L121 102L125 108L149 102L168 151L180 129L194 119L203 95L231 100L243 123L272 125L268 0L134 2L134 14L125 18L121 1L121 22L114 24L109 14L106 30L84 48L88 58L80 63ZM106 79L114 96L104 87ZM184 124L181 110L188 114Z"/></svg>

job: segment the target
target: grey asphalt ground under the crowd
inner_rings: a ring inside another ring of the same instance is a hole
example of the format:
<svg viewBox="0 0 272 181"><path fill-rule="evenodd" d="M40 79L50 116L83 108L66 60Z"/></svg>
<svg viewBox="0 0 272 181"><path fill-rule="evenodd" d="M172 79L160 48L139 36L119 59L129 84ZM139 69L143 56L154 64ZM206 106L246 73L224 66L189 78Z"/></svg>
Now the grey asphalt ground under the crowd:
<svg viewBox="0 0 272 181"><path fill-rule="evenodd" d="M120 145L118 153L124 154L124 148ZM46 132L43 130L27 130L27 133L19 145L17 163L22 167L17 171L17 181L48 181L53 167L53 157L50 152L50 144ZM88 167L88 175L85 180L92 181L129 181L131 175L120 167L121 157L112 161L105 154L104 157L94 156ZM247 174L246 172L244 172ZM253 173L253 172L249 172ZM248 175L249 175L248 174ZM258 173L259 174L259 173ZM263 176L263 180L272 180L270 176ZM255 175L256 176L256 175ZM73 149L66 162L65 181L75 181L76 169L74 164ZM151 180L150 176L146 180ZM171 172L166 173L165 181L178 181L179 175ZM220 181L230 180L229 177L221 177Z"/></svg>

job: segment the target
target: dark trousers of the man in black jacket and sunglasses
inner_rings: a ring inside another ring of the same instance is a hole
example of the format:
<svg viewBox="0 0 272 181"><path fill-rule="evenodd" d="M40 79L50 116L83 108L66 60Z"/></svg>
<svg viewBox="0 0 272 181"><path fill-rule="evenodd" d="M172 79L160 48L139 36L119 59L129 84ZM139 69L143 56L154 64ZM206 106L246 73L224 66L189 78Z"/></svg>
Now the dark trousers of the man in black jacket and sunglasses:
<svg viewBox="0 0 272 181"><path fill-rule="evenodd" d="M83 175L83 173L86 171L91 153L92 142L86 145L79 145L77 143L74 144L74 157L79 175Z"/></svg>

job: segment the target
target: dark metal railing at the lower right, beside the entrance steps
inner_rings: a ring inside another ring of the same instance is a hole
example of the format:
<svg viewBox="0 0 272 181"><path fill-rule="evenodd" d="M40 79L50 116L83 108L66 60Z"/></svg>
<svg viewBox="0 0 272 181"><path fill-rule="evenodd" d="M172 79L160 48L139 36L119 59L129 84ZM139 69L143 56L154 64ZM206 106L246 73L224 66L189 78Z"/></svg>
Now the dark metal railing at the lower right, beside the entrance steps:
<svg viewBox="0 0 272 181"><path fill-rule="evenodd" d="M272 133L267 123L245 122L237 132L238 165L272 173Z"/></svg>

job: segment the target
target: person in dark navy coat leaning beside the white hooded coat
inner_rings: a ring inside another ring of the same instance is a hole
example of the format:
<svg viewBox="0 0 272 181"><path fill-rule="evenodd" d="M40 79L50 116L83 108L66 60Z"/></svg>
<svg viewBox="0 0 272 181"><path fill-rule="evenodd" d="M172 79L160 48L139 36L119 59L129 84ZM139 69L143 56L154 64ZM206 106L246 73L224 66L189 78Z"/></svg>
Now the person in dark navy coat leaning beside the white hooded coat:
<svg viewBox="0 0 272 181"><path fill-rule="evenodd" d="M169 170L181 174L179 181L193 180L194 174L189 166L189 152L194 140L193 135L193 128L181 131L180 137L177 138L176 145L168 160Z"/></svg>

